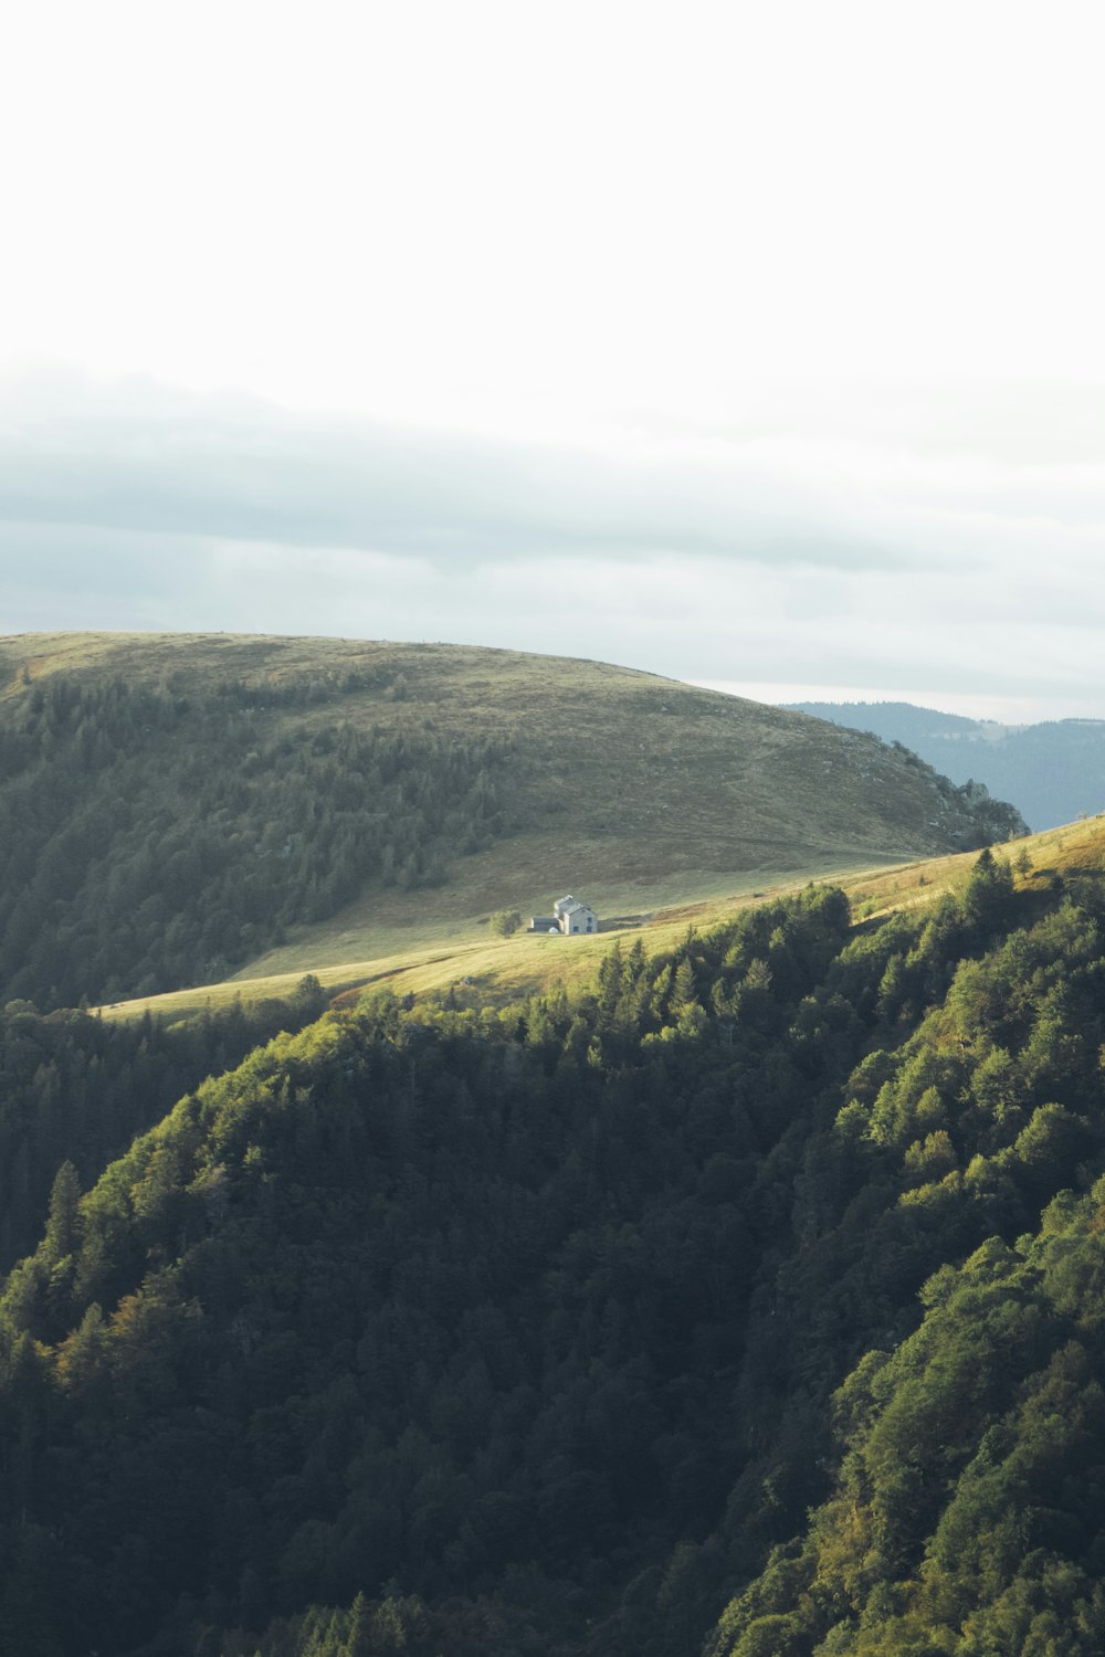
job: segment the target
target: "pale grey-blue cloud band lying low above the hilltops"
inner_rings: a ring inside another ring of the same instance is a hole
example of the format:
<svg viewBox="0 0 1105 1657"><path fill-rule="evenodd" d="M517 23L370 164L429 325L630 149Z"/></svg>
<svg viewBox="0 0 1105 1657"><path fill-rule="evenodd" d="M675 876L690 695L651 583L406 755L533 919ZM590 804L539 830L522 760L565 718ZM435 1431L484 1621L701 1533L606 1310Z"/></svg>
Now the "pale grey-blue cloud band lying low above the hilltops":
<svg viewBox="0 0 1105 1657"><path fill-rule="evenodd" d="M454 640L774 699L919 686L1011 719L1105 714L1105 489L1085 441L1102 406L1057 388L1016 419L943 406L969 418L969 449L911 388L853 388L843 437L775 388L759 416L606 421L572 442L12 381L0 628ZM1054 441L1057 411L1083 441L1027 464L1032 421Z"/></svg>

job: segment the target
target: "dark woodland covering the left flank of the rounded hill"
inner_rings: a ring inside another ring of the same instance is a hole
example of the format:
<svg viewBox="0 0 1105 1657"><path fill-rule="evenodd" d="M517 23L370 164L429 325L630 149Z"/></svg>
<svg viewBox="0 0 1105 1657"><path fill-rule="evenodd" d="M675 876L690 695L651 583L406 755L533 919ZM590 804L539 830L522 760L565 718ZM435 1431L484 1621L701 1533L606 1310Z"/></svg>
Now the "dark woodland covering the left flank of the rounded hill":
<svg viewBox="0 0 1105 1657"><path fill-rule="evenodd" d="M0 1002L225 978L287 926L369 883L437 883L502 833L509 746L427 721L355 726L341 698L356 683L182 694L55 674L7 704Z"/></svg>

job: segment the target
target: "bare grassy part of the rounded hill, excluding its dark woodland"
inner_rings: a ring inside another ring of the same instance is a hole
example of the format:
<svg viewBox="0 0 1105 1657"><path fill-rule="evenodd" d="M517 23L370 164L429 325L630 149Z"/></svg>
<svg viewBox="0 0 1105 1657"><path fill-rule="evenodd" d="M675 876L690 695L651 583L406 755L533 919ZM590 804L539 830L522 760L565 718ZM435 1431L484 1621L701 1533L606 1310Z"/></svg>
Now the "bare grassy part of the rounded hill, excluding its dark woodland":
<svg viewBox="0 0 1105 1657"><path fill-rule="evenodd" d="M606 663L330 638L20 635L0 638L0 716L55 673L174 693L358 674L373 684L267 717L514 742L507 837L454 858L444 886L366 890L239 976L485 938L489 910L543 911L568 890L605 916L639 913L996 837L971 802L873 737Z"/></svg>

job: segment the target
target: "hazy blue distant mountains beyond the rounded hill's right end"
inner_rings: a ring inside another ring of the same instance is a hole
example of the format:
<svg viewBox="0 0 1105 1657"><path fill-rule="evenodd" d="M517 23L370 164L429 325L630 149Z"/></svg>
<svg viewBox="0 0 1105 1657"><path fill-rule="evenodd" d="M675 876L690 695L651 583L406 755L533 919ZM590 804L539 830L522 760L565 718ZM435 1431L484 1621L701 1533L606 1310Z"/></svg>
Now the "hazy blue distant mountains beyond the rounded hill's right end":
<svg viewBox="0 0 1105 1657"><path fill-rule="evenodd" d="M984 782L1037 832L1105 810L1105 719L1004 726L914 703L787 703L795 713L901 742L963 785Z"/></svg>

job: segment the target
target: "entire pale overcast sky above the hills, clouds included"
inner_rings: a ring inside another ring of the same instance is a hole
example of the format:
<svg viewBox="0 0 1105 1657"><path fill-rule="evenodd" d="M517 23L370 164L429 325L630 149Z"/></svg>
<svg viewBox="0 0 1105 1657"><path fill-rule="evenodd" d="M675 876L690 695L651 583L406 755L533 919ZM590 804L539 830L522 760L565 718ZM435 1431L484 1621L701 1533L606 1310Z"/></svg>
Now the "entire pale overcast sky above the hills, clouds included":
<svg viewBox="0 0 1105 1657"><path fill-rule="evenodd" d="M0 631L1105 716L1097 5L36 0Z"/></svg>

